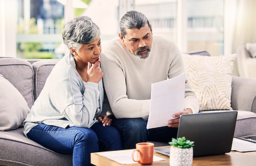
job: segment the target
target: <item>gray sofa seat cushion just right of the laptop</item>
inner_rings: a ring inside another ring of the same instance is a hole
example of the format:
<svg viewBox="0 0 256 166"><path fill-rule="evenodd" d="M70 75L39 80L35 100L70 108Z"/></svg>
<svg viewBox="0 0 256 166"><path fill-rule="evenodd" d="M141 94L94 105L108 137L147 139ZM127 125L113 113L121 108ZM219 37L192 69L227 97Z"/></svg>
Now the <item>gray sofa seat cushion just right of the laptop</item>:
<svg viewBox="0 0 256 166"><path fill-rule="evenodd" d="M239 138L256 138L256 113L250 111L237 112L234 136Z"/></svg>

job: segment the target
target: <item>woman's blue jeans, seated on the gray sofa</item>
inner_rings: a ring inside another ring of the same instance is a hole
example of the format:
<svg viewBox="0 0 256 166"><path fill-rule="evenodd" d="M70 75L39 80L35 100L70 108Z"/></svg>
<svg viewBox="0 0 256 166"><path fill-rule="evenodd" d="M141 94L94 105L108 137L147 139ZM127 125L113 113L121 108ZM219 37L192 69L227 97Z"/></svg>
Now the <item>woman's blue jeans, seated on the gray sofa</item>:
<svg viewBox="0 0 256 166"><path fill-rule="evenodd" d="M103 127L97 122L92 127L61 127L38 124L27 136L58 154L72 155L73 165L90 165L90 153L122 149L120 133L115 127ZM115 138L115 139L113 139Z"/></svg>

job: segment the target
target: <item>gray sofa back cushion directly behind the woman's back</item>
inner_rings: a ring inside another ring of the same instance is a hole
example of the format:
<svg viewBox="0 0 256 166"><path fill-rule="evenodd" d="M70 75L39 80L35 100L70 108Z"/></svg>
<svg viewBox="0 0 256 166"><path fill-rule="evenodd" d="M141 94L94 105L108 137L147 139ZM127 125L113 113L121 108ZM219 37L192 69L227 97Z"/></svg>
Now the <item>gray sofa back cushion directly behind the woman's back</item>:
<svg viewBox="0 0 256 166"><path fill-rule="evenodd" d="M38 98L38 95L42 91L42 88L45 86L45 81L51 73L52 68L60 59L51 59L51 60L40 60L32 64L33 71L35 73L35 89L34 96L35 99Z"/></svg>

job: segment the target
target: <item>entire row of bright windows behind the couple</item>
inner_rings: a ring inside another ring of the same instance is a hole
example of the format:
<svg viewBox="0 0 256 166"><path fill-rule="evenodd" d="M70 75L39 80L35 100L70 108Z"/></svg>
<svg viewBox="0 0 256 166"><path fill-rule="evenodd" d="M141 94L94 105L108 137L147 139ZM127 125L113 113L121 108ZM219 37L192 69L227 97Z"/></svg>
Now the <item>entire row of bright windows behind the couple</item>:
<svg viewBox="0 0 256 166"><path fill-rule="evenodd" d="M77 15L93 19L104 45L118 37L120 18L128 10L143 12L150 19L153 35L167 37L182 52L207 50L211 55L224 54L224 0L72 0L83 1L88 8L69 5L74 12L71 14L65 14L67 6L61 1L65 0L0 1L1 56L63 57L64 20ZM16 48L17 53L13 53Z"/></svg>

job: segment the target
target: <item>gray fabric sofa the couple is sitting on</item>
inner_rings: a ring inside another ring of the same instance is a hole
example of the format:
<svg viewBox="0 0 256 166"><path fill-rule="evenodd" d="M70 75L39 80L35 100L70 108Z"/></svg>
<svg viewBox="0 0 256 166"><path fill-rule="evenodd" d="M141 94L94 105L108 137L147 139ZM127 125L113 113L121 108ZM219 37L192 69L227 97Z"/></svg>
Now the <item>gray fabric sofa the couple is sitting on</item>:
<svg viewBox="0 0 256 166"><path fill-rule="evenodd" d="M0 57L0 74L18 89L31 108L57 62L58 59L49 59L32 63ZM234 135L256 137L256 80L232 77L232 108L241 110ZM29 140L21 126L0 131L0 165L72 165L72 156L57 154Z"/></svg>

